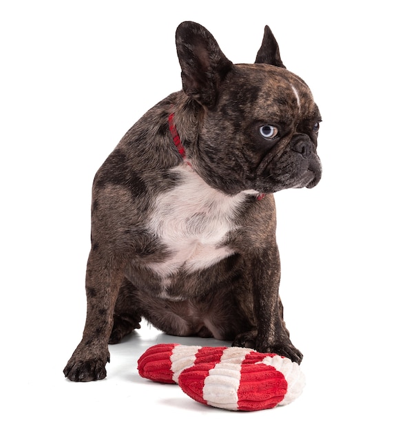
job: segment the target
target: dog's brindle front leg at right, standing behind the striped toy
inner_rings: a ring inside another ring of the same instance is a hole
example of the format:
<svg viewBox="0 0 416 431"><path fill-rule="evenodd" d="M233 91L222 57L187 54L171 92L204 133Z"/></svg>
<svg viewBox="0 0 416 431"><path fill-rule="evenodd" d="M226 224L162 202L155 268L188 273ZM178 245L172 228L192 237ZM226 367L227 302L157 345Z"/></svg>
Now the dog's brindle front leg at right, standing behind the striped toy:
<svg viewBox="0 0 416 431"><path fill-rule="evenodd" d="M280 258L277 244L269 246L253 267L254 314L258 324L256 350L278 353L300 364L302 353L293 346L279 297Z"/></svg>

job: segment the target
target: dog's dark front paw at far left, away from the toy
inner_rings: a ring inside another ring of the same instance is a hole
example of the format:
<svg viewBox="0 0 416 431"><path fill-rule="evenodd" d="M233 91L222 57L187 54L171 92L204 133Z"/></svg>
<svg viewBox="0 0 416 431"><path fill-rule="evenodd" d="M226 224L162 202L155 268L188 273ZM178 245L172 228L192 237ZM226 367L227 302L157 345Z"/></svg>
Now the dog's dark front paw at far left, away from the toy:
<svg viewBox="0 0 416 431"><path fill-rule="evenodd" d="M77 349L63 369L63 374L72 381L102 380L107 375L105 371L107 362L110 362L109 353L104 359L91 358L87 355L81 355Z"/></svg>

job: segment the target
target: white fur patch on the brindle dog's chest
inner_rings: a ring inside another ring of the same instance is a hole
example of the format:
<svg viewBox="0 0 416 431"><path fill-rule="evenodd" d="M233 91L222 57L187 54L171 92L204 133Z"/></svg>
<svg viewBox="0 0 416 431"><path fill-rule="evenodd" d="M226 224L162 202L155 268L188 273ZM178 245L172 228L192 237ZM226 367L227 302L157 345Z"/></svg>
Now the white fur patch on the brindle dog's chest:
<svg viewBox="0 0 416 431"><path fill-rule="evenodd" d="M227 196L209 187L187 165L172 171L180 173L183 182L157 197L147 224L169 251L167 260L147 267L166 284L180 269L198 271L233 254L222 242L236 228L236 210L247 196L245 192Z"/></svg>

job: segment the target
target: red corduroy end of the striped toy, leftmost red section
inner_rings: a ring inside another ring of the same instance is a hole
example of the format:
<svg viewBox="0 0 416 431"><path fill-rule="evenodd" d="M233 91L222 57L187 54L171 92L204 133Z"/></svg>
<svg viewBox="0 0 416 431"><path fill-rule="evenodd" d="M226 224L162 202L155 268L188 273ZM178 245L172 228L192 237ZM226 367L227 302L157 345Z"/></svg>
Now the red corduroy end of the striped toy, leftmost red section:
<svg viewBox="0 0 416 431"><path fill-rule="evenodd" d="M138 374L160 383L176 383L171 370L171 355L175 346L178 344L157 344L148 348L137 361Z"/></svg>

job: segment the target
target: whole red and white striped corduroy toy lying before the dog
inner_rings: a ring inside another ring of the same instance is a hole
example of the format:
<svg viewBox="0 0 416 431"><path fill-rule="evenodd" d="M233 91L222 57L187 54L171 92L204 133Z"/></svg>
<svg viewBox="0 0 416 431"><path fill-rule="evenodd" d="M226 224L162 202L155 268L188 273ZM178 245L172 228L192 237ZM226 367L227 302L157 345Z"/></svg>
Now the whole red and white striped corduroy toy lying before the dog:
<svg viewBox="0 0 416 431"><path fill-rule="evenodd" d="M300 367L274 353L241 347L157 344L138 359L141 377L178 383L195 401L227 410L264 410L300 396Z"/></svg>

